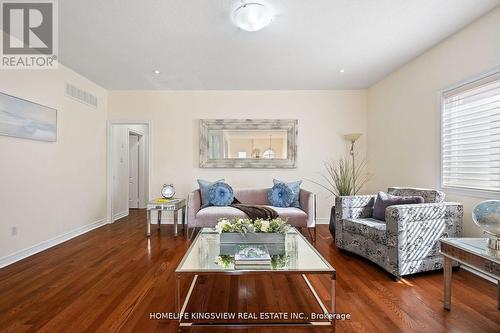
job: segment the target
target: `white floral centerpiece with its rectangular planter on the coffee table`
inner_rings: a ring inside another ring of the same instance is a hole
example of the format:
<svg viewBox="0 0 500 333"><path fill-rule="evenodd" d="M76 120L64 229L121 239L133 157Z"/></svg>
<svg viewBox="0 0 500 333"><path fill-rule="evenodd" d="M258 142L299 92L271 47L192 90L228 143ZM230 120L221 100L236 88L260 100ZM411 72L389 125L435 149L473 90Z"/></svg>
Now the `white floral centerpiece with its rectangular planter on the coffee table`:
<svg viewBox="0 0 500 333"><path fill-rule="evenodd" d="M215 226L215 230L220 234L221 244L284 243L289 229L290 225L281 218L271 220L221 218Z"/></svg>

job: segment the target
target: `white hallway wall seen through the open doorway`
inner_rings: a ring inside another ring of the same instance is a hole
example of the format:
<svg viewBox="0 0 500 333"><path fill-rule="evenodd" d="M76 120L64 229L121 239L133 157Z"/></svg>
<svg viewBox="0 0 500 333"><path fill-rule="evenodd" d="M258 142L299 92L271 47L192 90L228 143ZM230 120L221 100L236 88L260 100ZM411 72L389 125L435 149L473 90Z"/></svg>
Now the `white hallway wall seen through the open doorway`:
<svg viewBox="0 0 500 333"><path fill-rule="evenodd" d="M113 220L128 215L128 190L129 190L129 131L142 134L140 145L140 158L144 165L139 165L139 208L146 207L148 200L148 125L145 124L114 124L111 126L112 148L111 168L113 170ZM143 150L142 147L145 147Z"/></svg>

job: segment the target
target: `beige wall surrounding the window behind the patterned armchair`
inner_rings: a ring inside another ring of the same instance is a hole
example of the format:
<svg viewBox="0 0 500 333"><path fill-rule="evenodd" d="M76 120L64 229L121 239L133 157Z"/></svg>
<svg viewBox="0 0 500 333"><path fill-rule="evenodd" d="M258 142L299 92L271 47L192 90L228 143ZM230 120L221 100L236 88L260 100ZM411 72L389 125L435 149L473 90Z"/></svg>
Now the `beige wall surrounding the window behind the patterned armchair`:
<svg viewBox="0 0 500 333"><path fill-rule="evenodd" d="M368 90L372 191L391 185L439 186L438 92L500 66L500 7ZM466 235L479 235L471 209L484 198L447 191L464 203Z"/></svg>

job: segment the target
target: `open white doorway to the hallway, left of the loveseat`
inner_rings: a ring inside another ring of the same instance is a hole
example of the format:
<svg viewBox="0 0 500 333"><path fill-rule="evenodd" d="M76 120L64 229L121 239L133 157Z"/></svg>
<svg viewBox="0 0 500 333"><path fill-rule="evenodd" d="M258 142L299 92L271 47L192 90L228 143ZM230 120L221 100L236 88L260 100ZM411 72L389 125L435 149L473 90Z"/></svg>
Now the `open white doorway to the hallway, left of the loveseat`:
<svg viewBox="0 0 500 333"><path fill-rule="evenodd" d="M108 124L108 219L145 209L149 201L149 123Z"/></svg>

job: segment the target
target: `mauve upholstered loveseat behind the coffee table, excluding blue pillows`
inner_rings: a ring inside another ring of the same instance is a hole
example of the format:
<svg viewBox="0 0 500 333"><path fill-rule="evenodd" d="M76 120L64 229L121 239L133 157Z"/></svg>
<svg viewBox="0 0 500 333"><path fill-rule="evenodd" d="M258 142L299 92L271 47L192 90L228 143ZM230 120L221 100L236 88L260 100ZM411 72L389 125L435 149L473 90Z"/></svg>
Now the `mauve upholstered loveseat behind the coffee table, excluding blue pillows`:
<svg viewBox="0 0 500 333"><path fill-rule="evenodd" d="M308 228L316 231L316 196L314 193L301 189L299 194L300 208L274 207L269 204L267 193L269 189L235 189L234 197L243 204L264 205L273 208L279 217L287 219L296 228ZM188 228L214 227L221 217L248 218L241 210L234 207L209 206L201 208L200 190L188 195L187 225ZM316 237L314 237L316 239Z"/></svg>

